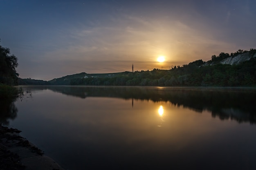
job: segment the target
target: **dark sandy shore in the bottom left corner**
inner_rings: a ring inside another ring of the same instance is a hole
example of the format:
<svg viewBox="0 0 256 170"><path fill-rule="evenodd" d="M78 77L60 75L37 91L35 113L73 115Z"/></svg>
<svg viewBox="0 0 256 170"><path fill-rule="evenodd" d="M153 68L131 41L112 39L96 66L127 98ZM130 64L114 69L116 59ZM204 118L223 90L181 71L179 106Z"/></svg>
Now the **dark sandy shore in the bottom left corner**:
<svg viewBox="0 0 256 170"><path fill-rule="evenodd" d="M20 132L0 124L0 170L64 170Z"/></svg>

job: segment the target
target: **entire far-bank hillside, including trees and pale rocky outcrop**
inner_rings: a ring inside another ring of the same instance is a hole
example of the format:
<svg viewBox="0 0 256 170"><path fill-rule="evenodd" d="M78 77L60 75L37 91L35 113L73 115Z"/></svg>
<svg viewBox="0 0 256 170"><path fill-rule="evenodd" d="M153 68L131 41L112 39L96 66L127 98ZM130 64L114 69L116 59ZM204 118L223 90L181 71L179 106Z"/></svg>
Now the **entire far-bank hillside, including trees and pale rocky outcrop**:
<svg viewBox="0 0 256 170"><path fill-rule="evenodd" d="M256 86L256 49L220 53L211 60L196 60L170 70L121 73L79 73L43 80L19 79L19 85L83 86Z"/></svg>

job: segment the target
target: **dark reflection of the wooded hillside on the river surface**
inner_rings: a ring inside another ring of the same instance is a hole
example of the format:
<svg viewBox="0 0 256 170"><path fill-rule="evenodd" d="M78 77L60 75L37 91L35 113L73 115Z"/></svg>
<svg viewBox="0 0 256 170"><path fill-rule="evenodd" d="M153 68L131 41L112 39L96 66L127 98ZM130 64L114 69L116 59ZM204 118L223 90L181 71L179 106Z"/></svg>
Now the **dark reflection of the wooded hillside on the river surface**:
<svg viewBox="0 0 256 170"><path fill-rule="evenodd" d="M76 97L118 97L124 99L171 102L213 117L256 123L256 90L228 88L154 88L154 87L90 87L48 86L47 89Z"/></svg>

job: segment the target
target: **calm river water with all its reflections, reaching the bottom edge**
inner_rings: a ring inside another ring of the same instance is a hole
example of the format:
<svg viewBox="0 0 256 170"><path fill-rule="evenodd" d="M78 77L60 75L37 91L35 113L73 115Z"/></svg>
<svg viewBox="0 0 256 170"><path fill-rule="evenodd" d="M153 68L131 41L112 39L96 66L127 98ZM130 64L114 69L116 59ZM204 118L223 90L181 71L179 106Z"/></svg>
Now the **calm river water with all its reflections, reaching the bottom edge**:
<svg viewBox="0 0 256 170"><path fill-rule="evenodd" d="M256 169L256 90L25 86L1 118L68 170Z"/></svg>

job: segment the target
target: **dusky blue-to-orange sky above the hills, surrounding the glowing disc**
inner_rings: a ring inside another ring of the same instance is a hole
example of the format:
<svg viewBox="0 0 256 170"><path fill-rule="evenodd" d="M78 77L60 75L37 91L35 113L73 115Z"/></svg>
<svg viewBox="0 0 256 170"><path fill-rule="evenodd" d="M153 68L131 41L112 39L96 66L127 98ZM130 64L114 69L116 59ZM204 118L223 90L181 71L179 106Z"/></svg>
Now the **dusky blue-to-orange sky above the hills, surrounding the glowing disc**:
<svg viewBox="0 0 256 170"><path fill-rule="evenodd" d="M0 43L18 57L21 78L169 69L256 48L255 8L256 0L0 0Z"/></svg>

